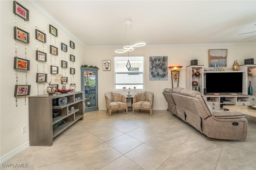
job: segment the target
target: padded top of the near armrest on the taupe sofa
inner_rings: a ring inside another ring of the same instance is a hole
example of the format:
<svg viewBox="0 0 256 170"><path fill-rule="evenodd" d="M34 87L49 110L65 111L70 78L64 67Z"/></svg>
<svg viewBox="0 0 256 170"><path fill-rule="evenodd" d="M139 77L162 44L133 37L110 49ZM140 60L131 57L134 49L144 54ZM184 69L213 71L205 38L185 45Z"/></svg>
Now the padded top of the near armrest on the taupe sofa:
<svg viewBox="0 0 256 170"><path fill-rule="evenodd" d="M240 111L214 111L212 114L218 119L236 119L245 117L245 114Z"/></svg>

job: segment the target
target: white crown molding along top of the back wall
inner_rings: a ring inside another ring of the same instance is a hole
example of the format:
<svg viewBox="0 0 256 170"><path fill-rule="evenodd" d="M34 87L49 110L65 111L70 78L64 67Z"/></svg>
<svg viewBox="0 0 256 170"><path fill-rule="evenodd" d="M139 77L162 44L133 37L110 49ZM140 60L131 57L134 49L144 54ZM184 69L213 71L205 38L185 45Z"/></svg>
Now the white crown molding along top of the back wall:
<svg viewBox="0 0 256 170"><path fill-rule="evenodd" d="M196 43L196 44L159 44L144 47L175 47L175 46L210 46L210 45L256 45L256 43ZM86 45L86 48L120 48L123 45ZM143 48L143 47L139 47Z"/></svg>

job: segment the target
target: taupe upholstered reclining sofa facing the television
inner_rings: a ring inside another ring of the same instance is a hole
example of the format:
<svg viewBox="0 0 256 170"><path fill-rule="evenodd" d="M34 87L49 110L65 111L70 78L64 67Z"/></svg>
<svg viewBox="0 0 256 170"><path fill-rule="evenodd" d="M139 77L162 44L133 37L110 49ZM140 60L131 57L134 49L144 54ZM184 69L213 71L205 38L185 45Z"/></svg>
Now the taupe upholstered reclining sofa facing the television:
<svg viewBox="0 0 256 170"><path fill-rule="evenodd" d="M165 88L168 110L210 138L245 140L248 122L240 111L214 111L198 91Z"/></svg>

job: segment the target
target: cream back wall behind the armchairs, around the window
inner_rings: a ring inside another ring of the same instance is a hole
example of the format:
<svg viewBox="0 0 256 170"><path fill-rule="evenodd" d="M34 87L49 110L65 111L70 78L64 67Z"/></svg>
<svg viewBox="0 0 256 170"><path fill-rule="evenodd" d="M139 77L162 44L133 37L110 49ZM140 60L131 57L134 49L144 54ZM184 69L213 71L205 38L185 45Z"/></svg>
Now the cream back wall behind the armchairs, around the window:
<svg viewBox="0 0 256 170"><path fill-rule="evenodd" d="M114 91L114 53L115 49L120 47L87 47L85 56L86 64L96 65L100 68L98 71L98 98L99 108L105 109L104 93ZM154 109L166 109L167 103L164 100L162 91L164 88L171 88L170 70L168 71L168 80L149 80L149 57L150 56L168 56L168 66L181 65L179 86L186 88L186 66L190 65L190 60L198 59L198 65L208 67L208 49L228 49L227 67L231 68L234 60L239 64L244 64L244 59L254 58L256 56L255 44L244 45L172 45L166 47L149 46L136 48L130 55L144 55L144 82L145 90L154 93ZM102 70L102 61L111 60L111 71ZM255 62L256 63L256 62ZM218 80L216 80L218 81ZM221 82L219 82L221 83ZM127 94L127 91L120 91ZM137 93L131 92L133 95Z"/></svg>

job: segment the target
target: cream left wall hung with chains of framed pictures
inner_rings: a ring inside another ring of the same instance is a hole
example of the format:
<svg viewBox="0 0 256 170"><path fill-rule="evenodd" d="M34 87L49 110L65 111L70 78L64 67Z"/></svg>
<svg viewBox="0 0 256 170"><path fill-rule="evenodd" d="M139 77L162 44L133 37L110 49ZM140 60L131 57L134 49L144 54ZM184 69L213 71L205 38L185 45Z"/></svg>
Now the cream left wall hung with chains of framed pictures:
<svg viewBox="0 0 256 170"><path fill-rule="evenodd" d="M31 85L30 96L37 95L36 85L36 39L35 27L37 26L40 31L44 30L47 35L47 43L44 45L45 53L47 53L47 63L45 63L45 72L48 74L48 82L50 82L50 33L49 24L53 24L49 19L40 14L32 6L24 1L18 1L30 11L30 21L26 21L26 31L30 33L30 44L27 45L27 59L30 60L30 71L28 72L28 84ZM15 106L14 87L15 87L15 70L14 65L14 14L13 1L1 1L1 157L8 154L12 150L20 147L29 141L28 132L28 98L27 105L24 105L24 97L18 98L18 107ZM17 26L23 29L24 20L17 16ZM54 24L53 24L54 25ZM56 26L56 25L54 25ZM81 90L81 74L80 66L84 63L84 46L77 42L77 40L68 34L64 29L57 27L58 37L56 37L56 46L59 49L59 55L56 58L59 72L61 73L61 41L68 45L68 53L66 53L66 61L68 61L68 69L66 75L69 77L69 54L70 47L69 41L75 43L74 55L76 62L75 83L77 90ZM42 51L42 43L38 41L39 50ZM54 45L54 37L52 36L52 44ZM17 41L18 57L24 58L24 43ZM64 59L64 52L63 52ZM54 57L52 57L52 64L54 65ZM39 72L43 72L43 64L39 62ZM54 79L54 76L52 76ZM19 84L25 84L25 73L18 71ZM70 81L67 87L70 86ZM60 86L60 85L59 85ZM45 85L45 88L47 84ZM61 86L60 86L61 87ZM39 94L43 94L43 84L39 84ZM47 93L46 93L47 94ZM40 108L38 108L40 109ZM27 132L22 134L22 126L27 126Z"/></svg>

